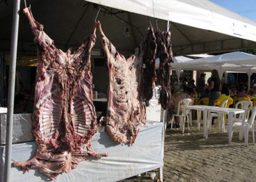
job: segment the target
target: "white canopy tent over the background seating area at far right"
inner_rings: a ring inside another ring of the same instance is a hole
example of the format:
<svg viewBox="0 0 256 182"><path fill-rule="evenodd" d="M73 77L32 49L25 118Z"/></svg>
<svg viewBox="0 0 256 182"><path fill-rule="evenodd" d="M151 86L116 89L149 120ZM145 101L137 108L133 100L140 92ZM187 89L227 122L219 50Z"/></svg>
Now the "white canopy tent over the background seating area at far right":
<svg viewBox="0 0 256 182"><path fill-rule="evenodd" d="M219 75L224 72L245 72L248 75L248 88L250 88L250 77L256 73L256 56L244 52L230 52L218 56L199 58L179 63L182 70L218 70ZM178 70L178 69L177 69ZM225 75L225 79L227 76Z"/></svg>

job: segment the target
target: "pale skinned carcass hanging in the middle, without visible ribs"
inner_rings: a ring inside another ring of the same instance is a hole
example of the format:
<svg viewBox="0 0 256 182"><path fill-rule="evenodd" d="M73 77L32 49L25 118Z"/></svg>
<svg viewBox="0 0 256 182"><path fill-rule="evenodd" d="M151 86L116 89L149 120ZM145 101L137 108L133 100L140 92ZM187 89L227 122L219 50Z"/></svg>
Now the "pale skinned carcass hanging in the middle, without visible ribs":
<svg viewBox="0 0 256 182"><path fill-rule="evenodd" d="M99 30L109 70L106 129L116 143L133 144L146 117L142 83L145 44L126 59L104 35L100 23Z"/></svg>

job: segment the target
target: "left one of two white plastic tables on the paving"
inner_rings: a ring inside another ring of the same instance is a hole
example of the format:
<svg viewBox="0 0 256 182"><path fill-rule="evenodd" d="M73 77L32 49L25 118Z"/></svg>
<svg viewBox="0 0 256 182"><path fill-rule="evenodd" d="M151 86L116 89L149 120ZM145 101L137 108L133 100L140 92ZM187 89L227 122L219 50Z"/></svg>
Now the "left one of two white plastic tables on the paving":
<svg viewBox="0 0 256 182"><path fill-rule="evenodd" d="M190 106L186 106L185 109L189 109L189 110L197 110L197 123L199 123L199 119L200 119L200 112L203 112L203 130L204 130L204 137L207 138L208 137L208 127L207 127L207 114L208 111L210 109L213 108L219 108L216 106L209 106L209 105L190 105ZM200 126L198 126L198 128L200 128Z"/></svg>

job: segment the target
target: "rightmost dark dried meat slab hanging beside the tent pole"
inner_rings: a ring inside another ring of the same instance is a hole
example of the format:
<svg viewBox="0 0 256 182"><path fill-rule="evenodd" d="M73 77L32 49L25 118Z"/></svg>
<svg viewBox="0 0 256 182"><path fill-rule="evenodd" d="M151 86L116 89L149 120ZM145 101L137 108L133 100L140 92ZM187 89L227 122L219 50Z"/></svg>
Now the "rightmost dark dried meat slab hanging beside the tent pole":
<svg viewBox="0 0 256 182"><path fill-rule="evenodd" d="M158 70L158 81L161 84L160 103L166 110L171 104L171 63L173 62L173 52L171 50L171 32L161 32L157 30L157 55L159 56L160 64Z"/></svg>

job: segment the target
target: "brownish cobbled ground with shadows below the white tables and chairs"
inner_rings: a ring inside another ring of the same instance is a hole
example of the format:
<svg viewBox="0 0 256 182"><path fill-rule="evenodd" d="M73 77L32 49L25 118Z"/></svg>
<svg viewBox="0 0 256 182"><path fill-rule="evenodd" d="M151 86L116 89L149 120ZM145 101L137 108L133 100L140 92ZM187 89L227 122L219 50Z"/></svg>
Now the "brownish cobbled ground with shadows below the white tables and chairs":
<svg viewBox="0 0 256 182"><path fill-rule="evenodd" d="M216 122L215 122L216 123ZM227 129L227 126L226 126ZM177 128L166 130L164 142L164 181L191 182L256 182L256 145L249 132L249 145L238 140L233 133L228 144L227 133L218 132L214 124L208 138L203 138L202 127L197 130L196 122L182 134ZM153 182L149 175L157 170L131 177L120 182Z"/></svg>

